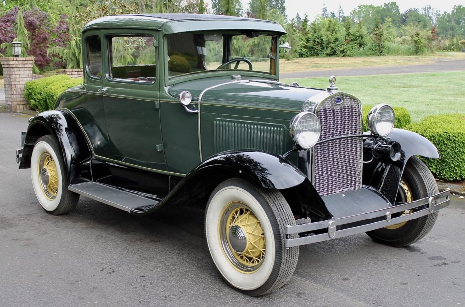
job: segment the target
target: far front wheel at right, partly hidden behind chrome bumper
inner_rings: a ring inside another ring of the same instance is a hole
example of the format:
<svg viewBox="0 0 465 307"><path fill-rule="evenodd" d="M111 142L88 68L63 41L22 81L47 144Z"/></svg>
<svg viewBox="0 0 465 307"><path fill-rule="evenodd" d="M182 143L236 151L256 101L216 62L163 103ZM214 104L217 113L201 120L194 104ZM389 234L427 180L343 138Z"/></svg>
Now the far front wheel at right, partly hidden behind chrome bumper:
<svg viewBox="0 0 465 307"><path fill-rule="evenodd" d="M411 202L438 193L433 175L428 167L418 158L408 161L397 193L398 202ZM408 214L406 211L402 214ZM376 229L367 232L374 241L394 247L407 246L422 239L433 228L438 217L437 212L418 219Z"/></svg>

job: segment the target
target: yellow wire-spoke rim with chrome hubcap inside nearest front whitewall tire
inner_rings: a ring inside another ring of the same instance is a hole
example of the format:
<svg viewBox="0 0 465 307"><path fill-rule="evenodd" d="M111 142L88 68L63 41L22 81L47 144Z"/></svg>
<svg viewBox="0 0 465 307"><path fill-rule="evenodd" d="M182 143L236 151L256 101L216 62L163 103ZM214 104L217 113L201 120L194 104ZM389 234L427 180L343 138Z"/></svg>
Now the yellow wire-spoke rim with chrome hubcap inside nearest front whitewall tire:
<svg viewBox="0 0 465 307"><path fill-rule="evenodd" d="M265 257L263 228L253 211L240 202L225 206L219 220L221 244L234 268L252 272Z"/></svg>

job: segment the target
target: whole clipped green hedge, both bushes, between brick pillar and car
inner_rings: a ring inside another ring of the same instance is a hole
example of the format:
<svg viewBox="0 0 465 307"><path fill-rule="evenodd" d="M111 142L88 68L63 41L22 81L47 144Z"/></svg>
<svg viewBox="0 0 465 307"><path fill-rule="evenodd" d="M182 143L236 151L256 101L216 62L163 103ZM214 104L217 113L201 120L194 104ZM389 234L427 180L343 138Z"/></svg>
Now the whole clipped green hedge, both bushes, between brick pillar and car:
<svg viewBox="0 0 465 307"><path fill-rule="evenodd" d="M55 75L26 82L24 96L29 106L39 112L53 110L58 96L68 88L82 84L81 78Z"/></svg>

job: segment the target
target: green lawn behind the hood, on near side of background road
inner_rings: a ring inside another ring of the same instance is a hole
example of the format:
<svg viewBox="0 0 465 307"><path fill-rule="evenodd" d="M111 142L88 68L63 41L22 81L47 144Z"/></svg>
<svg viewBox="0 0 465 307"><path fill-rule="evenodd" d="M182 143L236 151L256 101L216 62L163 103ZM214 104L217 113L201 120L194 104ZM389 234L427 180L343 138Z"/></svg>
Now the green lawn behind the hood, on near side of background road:
<svg viewBox="0 0 465 307"><path fill-rule="evenodd" d="M412 121L431 114L465 113L465 72L438 72L337 78L340 91L353 94L362 104L388 103L406 108ZM300 86L326 88L327 77L281 79Z"/></svg>

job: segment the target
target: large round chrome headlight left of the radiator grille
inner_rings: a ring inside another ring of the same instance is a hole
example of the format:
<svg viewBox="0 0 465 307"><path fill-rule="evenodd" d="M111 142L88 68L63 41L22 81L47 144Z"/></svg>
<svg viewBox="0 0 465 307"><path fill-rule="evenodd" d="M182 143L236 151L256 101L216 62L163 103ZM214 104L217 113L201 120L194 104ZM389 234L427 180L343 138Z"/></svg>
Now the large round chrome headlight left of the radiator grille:
<svg viewBox="0 0 465 307"><path fill-rule="evenodd" d="M320 137L321 127L318 117L310 112L300 112L290 123L290 134L294 142L303 149L315 146Z"/></svg>

